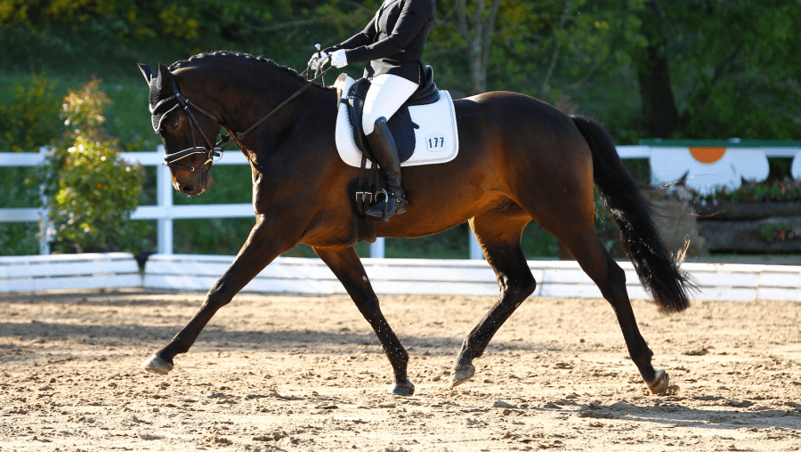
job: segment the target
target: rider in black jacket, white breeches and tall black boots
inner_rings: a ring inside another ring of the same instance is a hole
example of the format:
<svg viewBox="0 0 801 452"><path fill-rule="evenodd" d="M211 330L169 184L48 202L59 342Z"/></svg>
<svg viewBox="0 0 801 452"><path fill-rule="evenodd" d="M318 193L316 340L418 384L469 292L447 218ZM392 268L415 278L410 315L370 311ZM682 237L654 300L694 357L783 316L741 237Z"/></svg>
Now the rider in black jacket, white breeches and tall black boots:
<svg viewBox="0 0 801 452"><path fill-rule="evenodd" d="M364 77L370 79L371 85L361 125L386 177L387 198L370 207L367 214L383 221L393 214L403 214L409 204L401 189L398 148L386 121L423 82L425 38L436 14L434 0L384 0L360 33L315 53L309 61L312 69L317 69L320 61L325 62L328 53L336 68L369 61Z"/></svg>

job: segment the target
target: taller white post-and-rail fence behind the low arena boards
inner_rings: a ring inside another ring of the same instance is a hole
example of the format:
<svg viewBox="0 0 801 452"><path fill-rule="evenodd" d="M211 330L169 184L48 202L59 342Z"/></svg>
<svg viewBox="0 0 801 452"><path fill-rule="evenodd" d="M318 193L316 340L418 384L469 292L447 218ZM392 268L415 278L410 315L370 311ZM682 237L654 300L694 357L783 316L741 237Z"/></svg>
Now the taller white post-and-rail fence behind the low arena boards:
<svg viewBox="0 0 801 452"><path fill-rule="evenodd" d="M651 158L654 152L686 152L686 147L651 147L651 146L619 146L618 154L621 158ZM766 147L766 157L797 157L801 155L801 148L797 147ZM38 153L0 153L0 166L38 166L44 162L44 148ZM123 153L122 157L132 163L157 167L157 205L139 206L131 215L134 220L156 220L158 222L158 254L173 254L173 221L190 218L245 218L253 217L253 206L250 204L217 204L200 206L174 206L173 186L169 169L161 165L164 161L164 149L159 146L155 152ZM664 161L664 158L662 158ZM669 159L668 159L669 160ZM793 165L794 174L801 177L801 158L796 158ZM231 151L214 165L248 165L247 158L240 152ZM655 174L654 171L651 171ZM46 215L43 209L36 208L4 208L0 209L0 222L40 222ZM40 241L40 253L47 254L48 246L44 233ZM471 259L483 259L481 247L469 234ZM384 238L378 238L370 246L370 256L384 257Z"/></svg>

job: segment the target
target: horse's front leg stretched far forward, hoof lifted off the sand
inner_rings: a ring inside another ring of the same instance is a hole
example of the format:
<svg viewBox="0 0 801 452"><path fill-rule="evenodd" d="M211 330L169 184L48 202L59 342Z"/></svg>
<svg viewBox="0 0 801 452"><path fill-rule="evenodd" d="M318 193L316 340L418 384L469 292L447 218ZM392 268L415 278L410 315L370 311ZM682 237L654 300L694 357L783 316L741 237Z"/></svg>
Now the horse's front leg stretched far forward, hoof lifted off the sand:
<svg viewBox="0 0 801 452"><path fill-rule="evenodd" d="M286 233L287 231L284 232L277 230L275 223L263 215L257 217L245 245L239 250L231 267L225 270L223 278L217 280L214 287L208 291L206 300L189 324L183 327L163 349L145 359L142 367L158 374L166 374L172 370L175 355L189 351L198 339L200 331L214 317L214 313L230 303L234 295L237 295L276 256L296 245L297 242L291 238L294 236Z"/></svg>

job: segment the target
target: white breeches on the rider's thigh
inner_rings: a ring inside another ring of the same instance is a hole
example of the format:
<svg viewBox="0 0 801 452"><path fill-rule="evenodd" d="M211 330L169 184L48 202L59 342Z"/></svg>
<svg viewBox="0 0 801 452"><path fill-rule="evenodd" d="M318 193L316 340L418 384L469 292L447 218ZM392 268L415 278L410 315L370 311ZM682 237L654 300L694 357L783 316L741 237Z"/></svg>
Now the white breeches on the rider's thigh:
<svg viewBox="0 0 801 452"><path fill-rule="evenodd" d="M403 102L417 90L417 84L403 77L380 74L371 80L370 89L364 100L364 114L361 127L365 134L373 133L376 119L385 117L389 120Z"/></svg>

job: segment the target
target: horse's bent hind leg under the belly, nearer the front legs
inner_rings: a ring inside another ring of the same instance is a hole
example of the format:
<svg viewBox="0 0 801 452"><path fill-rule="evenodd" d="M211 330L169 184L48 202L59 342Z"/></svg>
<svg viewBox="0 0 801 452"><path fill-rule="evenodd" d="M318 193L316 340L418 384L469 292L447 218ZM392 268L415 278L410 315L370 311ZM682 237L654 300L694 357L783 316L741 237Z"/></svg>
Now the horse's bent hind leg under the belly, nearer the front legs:
<svg viewBox="0 0 801 452"><path fill-rule="evenodd" d="M490 211L470 221L484 256L498 277L500 295L498 302L465 337L453 365L451 386L465 383L475 374L473 359L481 356L498 328L537 287L520 246L522 230L530 221L531 217L518 206Z"/></svg>

